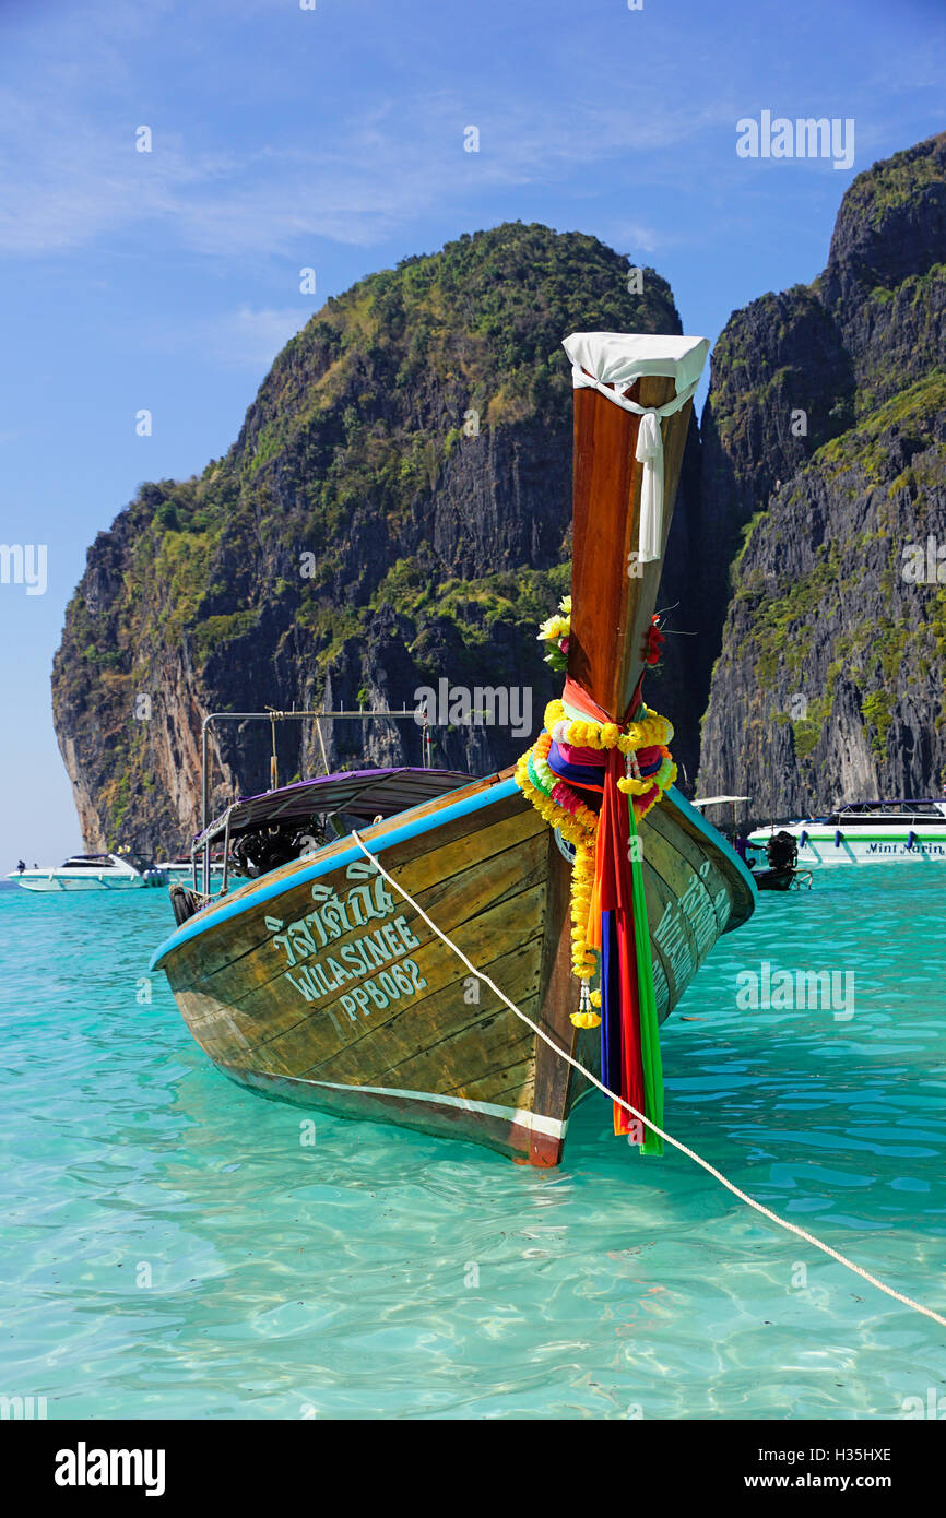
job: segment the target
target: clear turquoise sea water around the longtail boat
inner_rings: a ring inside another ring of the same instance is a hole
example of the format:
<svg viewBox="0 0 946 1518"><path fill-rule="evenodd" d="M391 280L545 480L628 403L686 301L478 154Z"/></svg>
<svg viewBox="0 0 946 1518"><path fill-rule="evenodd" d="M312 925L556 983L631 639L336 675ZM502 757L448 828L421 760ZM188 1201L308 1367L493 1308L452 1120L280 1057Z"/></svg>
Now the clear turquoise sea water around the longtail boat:
<svg viewBox="0 0 946 1518"><path fill-rule="evenodd" d="M169 931L162 891L0 890L0 1392L50 1418L946 1413L946 1330L642 1160L604 1099L554 1172L320 1114L304 1146L149 981ZM741 1011L762 961L853 973L853 1016ZM670 1132L946 1310L944 870L761 897L662 1038Z"/></svg>

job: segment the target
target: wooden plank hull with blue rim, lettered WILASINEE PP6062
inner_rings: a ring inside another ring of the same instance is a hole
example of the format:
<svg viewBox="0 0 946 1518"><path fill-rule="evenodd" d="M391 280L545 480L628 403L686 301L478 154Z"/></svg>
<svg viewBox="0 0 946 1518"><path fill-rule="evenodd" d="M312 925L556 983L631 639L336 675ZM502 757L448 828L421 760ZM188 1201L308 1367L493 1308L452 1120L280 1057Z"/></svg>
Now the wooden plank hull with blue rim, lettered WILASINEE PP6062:
<svg viewBox="0 0 946 1518"><path fill-rule="evenodd" d="M366 846L554 1041L572 1026L569 864L509 776L364 829ZM641 824L657 1013L753 908L752 877L676 792ZM200 1047L232 1079L346 1117L557 1164L588 1082L448 949L351 839L228 894L156 952Z"/></svg>

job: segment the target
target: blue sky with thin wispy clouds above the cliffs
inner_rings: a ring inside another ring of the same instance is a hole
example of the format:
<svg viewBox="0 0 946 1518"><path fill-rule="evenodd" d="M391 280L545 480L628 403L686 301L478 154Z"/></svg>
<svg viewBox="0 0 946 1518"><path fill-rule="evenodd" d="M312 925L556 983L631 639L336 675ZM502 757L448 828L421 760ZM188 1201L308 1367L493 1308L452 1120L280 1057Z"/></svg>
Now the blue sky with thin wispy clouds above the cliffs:
<svg viewBox="0 0 946 1518"><path fill-rule="evenodd" d="M325 298L518 217L715 340L946 126L944 55L940 0L0 0L0 540L49 545L44 595L0 584L0 871L79 846L49 674L87 546L225 452ZM853 167L738 158L764 109L853 118Z"/></svg>

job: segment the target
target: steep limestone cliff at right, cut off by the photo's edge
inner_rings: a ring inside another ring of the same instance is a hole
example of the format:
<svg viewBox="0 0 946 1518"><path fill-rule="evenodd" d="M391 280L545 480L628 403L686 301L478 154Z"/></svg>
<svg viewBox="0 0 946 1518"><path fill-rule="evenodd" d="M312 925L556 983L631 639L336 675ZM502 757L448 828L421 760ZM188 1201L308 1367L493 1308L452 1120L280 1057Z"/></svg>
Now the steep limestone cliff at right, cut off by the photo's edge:
<svg viewBox="0 0 946 1518"><path fill-rule="evenodd" d="M703 794L938 795L946 135L855 179L812 285L730 317L702 445Z"/></svg>

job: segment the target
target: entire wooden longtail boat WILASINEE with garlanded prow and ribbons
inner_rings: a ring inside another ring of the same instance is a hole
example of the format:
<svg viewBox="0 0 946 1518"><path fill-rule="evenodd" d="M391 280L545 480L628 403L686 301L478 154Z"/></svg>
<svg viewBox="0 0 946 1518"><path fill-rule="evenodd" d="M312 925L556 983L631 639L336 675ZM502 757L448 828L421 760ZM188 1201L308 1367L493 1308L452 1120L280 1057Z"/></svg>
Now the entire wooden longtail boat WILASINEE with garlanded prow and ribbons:
<svg viewBox="0 0 946 1518"><path fill-rule="evenodd" d="M572 594L539 635L565 688L536 742L478 780L372 770L235 802L197 836L194 888L172 887L179 926L152 961L243 1085L538 1166L560 1161L589 1090L563 1055L639 1114L615 1102L615 1132L661 1151L657 1025L755 905L743 861L674 788L673 730L641 698L708 343L563 346ZM220 846L252 877L211 897L197 859Z"/></svg>

